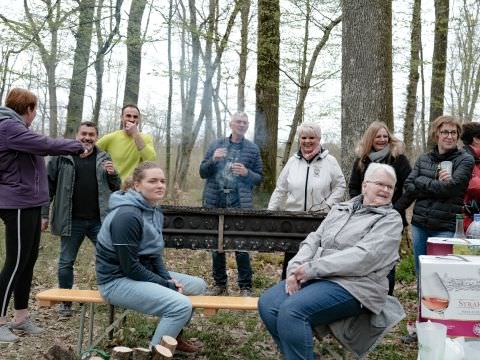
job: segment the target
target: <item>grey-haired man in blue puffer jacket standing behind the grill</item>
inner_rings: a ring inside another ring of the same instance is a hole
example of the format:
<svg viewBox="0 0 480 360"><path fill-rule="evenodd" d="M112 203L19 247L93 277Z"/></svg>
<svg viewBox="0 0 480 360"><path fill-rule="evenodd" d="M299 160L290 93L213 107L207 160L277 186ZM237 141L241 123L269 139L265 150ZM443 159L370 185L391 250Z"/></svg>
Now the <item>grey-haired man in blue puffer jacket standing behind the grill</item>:
<svg viewBox="0 0 480 360"><path fill-rule="evenodd" d="M252 208L253 186L262 181L262 160L257 145L245 139L248 116L233 114L231 135L215 140L200 164L200 177L206 179L203 206L206 208ZM252 294L252 268L246 251L235 251L240 294ZM215 286L210 295L227 294L225 253L212 252Z"/></svg>

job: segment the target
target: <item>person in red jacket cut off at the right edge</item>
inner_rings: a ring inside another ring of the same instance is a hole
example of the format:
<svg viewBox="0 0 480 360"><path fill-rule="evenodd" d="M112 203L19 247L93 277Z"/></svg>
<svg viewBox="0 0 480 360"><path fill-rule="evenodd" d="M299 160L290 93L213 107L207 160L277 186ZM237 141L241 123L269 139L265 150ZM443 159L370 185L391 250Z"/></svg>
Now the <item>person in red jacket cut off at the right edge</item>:
<svg viewBox="0 0 480 360"><path fill-rule="evenodd" d="M463 202L465 219L465 230L468 229L473 221L473 214L480 213L480 123L470 122L463 124L462 136L464 150L473 156L475 165L472 170L472 177L468 182L467 191Z"/></svg>

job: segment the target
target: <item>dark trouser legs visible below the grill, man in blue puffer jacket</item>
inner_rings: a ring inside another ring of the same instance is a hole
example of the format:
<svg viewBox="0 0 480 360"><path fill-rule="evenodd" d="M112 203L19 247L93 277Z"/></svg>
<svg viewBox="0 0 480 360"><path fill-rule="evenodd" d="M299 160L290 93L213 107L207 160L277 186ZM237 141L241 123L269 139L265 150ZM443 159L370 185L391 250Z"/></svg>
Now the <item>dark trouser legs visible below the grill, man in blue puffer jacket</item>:
<svg viewBox="0 0 480 360"><path fill-rule="evenodd" d="M246 289L252 287L252 267L250 265L250 255L246 251L235 251L238 269L238 287ZM215 285L227 285L227 268L224 252L212 251L212 270Z"/></svg>

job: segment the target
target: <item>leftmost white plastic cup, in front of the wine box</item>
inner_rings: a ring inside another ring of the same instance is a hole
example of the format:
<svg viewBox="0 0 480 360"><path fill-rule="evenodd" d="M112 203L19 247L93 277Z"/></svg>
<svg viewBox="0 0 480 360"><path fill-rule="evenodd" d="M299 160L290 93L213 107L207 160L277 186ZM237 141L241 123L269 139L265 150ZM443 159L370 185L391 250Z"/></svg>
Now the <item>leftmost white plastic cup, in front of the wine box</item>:
<svg viewBox="0 0 480 360"><path fill-rule="evenodd" d="M418 358L417 360L443 359L447 327L443 324L417 321Z"/></svg>

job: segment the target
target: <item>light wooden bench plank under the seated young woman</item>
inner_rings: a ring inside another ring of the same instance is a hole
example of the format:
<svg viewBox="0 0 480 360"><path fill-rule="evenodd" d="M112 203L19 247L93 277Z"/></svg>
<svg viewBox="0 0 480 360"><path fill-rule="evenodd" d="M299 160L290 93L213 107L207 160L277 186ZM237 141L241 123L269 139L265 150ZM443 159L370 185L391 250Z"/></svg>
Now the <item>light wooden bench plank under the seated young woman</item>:
<svg viewBox="0 0 480 360"><path fill-rule="evenodd" d="M189 296L189 298L193 308L201 309L257 310L258 304L256 297ZM40 306L53 306L64 301L106 304L98 290L48 289L39 292L36 299Z"/></svg>

